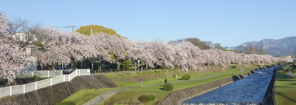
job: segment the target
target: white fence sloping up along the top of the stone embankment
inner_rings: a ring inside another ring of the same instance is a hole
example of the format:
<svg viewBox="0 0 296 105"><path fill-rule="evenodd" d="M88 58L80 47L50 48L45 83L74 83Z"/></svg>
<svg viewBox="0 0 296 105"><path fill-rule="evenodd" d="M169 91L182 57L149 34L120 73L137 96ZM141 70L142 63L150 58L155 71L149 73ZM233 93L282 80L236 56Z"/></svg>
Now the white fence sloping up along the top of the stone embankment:
<svg viewBox="0 0 296 105"><path fill-rule="evenodd" d="M37 81L34 83L9 86L5 88L0 88L0 97L11 96L13 94L27 93L33 90L44 88L47 86L52 86L57 83L70 81L76 76L80 75L90 75L90 69L77 69L71 74L60 75L54 78L44 79L42 81Z"/></svg>

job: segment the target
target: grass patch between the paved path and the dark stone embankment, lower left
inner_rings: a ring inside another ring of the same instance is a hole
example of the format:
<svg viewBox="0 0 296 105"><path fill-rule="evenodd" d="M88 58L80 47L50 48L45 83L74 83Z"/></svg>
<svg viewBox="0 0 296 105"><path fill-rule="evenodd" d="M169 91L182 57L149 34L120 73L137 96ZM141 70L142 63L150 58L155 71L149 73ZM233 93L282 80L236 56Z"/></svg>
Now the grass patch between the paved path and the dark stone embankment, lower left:
<svg viewBox="0 0 296 105"><path fill-rule="evenodd" d="M62 102L57 103L57 105L82 105L102 93L116 89L120 88L82 89L72 94L70 97L66 98Z"/></svg>

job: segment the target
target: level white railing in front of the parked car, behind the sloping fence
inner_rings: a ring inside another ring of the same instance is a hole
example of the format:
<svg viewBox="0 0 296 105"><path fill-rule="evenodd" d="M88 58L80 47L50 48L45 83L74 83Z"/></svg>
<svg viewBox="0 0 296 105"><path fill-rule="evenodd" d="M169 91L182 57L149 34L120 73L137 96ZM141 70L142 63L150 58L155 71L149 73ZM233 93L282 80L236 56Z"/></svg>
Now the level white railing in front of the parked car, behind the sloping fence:
<svg viewBox="0 0 296 105"><path fill-rule="evenodd" d="M14 72L15 78L30 78L34 76L38 77L57 77L63 75L63 71L21 71L21 72ZM7 79L3 78L2 75L0 74L0 79Z"/></svg>

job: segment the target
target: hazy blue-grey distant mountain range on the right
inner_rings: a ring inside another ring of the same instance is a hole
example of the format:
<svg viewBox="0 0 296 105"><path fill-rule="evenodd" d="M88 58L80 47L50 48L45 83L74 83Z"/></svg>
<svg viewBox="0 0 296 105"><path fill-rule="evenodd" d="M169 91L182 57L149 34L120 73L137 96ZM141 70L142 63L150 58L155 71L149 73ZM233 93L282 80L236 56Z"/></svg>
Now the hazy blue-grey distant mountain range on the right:
<svg viewBox="0 0 296 105"><path fill-rule="evenodd" d="M295 56L296 52L296 37L285 37L282 39L263 39L258 42L244 42L237 47L222 47L227 49L244 50L246 43L252 45L263 46L265 54L271 56Z"/></svg>

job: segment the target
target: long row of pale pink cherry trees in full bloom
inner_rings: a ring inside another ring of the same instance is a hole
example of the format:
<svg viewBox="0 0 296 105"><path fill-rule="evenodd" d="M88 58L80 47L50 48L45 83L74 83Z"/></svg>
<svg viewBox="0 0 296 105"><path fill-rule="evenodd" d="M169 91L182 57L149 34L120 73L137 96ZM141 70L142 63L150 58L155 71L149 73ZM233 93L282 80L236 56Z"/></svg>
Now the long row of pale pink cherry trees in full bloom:
<svg viewBox="0 0 296 105"><path fill-rule="evenodd" d="M9 35L9 22L4 15L0 21L0 73L10 81L13 71L25 68L25 58L29 56L22 48L15 45ZM153 64L169 68L180 67L183 71L189 68L196 70L203 65L219 65L226 67L231 63L273 63L291 61L291 59L275 58L270 55L243 54L218 49L200 50L190 42L167 44L164 40L130 41L126 38L97 33L86 36L77 32L59 31L54 27L38 28L34 36L44 43L44 50L33 49L30 56L47 64L70 64L89 59L93 62L110 62L119 64L128 59L139 59L142 63L154 68Z"/></svg>

